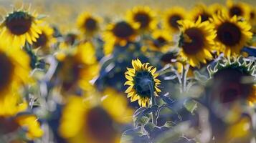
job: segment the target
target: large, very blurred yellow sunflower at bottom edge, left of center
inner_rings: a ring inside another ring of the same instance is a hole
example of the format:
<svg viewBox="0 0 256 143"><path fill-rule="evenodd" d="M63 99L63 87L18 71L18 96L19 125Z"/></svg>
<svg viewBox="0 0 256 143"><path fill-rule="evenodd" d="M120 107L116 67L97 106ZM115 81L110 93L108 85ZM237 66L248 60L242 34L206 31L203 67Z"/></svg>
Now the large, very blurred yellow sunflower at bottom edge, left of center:
<svg viewBox="0 0 256 143"><path fill-rule="evenodd" d="M116 125L131 122L133 111L122 96L108 94L102 102L94 97L72 96L67 102L59 132L68 142L120 142Z"/></svg>

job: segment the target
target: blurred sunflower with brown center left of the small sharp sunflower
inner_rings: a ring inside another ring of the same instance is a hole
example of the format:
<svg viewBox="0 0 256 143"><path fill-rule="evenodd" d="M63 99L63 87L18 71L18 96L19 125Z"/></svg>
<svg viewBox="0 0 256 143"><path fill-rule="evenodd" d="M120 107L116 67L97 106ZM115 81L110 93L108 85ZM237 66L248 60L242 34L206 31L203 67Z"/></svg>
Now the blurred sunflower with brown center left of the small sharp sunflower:
<svg viewBox="0 0 256 143"><path fill-rule="evenodd" d="M100 68L95 57L95 49L90 42L79 44L70 54L57 55L57 59L60 61L57 77L60 78L65 92L74 89L77 85L82 89L90 90L89 82L98 74Z"/></svg>

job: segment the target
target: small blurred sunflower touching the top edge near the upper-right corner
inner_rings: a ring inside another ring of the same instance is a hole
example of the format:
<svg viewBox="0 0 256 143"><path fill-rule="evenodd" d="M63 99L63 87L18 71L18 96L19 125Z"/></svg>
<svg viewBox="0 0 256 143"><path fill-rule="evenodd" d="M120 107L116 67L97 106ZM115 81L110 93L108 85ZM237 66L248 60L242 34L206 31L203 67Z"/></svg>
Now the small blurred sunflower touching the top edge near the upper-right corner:
<svg viewBox="0 0 256 143"><path fill-rule="evenodd" d="M232 0L227 0L227 13L230 18L233 16L241 16L248 20L250 19L250 6L241 1L234 3Z"/></svg>

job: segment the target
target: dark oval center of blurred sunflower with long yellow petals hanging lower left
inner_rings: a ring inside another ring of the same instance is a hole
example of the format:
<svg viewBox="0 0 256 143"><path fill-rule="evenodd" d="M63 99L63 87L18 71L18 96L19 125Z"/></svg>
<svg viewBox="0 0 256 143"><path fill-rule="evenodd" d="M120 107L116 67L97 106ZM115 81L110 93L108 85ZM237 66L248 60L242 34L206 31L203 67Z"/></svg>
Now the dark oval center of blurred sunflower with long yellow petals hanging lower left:
<svg viewBox="0 0 256 143"><path fill-rule="evenodd" d="M113 34L123 39L127 39L129 36L134 34L133 27L125 21L120 21L115 24L113 28Z"/></svg>

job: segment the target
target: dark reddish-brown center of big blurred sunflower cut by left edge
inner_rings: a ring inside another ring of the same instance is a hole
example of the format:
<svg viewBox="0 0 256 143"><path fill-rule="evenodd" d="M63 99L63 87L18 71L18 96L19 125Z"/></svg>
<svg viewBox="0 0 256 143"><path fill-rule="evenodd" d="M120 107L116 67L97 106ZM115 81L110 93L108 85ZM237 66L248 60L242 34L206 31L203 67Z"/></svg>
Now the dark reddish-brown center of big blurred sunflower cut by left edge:
<svg viewBox="0 0 256 143"><path fill-rule="evenodd" d="M6 54L0 52L0 91L6 89L12 79L14 65Z"/></svg>

